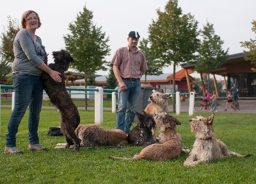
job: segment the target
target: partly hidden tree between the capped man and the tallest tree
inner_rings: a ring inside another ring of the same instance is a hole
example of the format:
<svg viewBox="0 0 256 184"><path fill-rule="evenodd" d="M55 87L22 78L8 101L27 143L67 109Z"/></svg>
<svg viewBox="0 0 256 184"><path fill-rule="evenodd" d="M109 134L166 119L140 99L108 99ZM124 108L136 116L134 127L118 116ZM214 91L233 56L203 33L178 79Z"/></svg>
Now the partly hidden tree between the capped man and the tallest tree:
<svg viewBox="0 0 256 184"><path fill-rule="evenodd" d="M163 73L163 64L157 62L157 59L155 59L156 57L154 52L151 51L148 39L141 39L140 46L138 47L140 48L141 52L144 53L147 60L148 70L145 71L145 82L147 82L147 75L159 75Z"/></svg>

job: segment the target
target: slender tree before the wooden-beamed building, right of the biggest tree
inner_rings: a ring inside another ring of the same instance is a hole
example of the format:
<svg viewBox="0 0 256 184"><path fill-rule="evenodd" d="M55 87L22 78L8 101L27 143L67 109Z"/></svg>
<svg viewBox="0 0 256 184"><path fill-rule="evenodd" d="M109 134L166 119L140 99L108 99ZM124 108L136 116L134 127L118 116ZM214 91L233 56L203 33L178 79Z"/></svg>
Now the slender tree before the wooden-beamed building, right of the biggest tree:
<svg viewBox="0 0 256 184"><path fill-rule="evenodd" d="M207 21L207 24L200 30L202 36L202 43L198 50L198 58L195 64L195 70L208 74L208 88L209 88L209 74L213 69L218 69L228 59L228 49L223 50L223 40L220 36L214 34L213 24Z"/></svg>

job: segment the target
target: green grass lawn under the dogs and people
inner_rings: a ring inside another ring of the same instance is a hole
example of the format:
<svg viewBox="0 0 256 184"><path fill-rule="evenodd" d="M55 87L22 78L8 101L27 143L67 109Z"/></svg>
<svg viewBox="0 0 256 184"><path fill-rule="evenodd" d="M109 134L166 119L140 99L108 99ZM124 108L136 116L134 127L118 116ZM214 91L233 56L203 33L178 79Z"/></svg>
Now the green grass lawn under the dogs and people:
<svg viewBox="0 0 256 184"><path fill-rule="evenodd" d="M148 160L111 160L108 155L132 157L143 146L122 148L81 148L55 150L56 143L64 143L64 137L49 137L49 127L60 125L60 114L56 110L43 109L40 114L38 134L40 143L48 152L31 152L28 148L28 112L22 119L17 134L17 148L23 155L9 155L3 152L10 108L1 108L0 134L0 183L255 183L255 114L216 113L214 131L230 150L252 157L230 157L213 160L209 164L184 167L188 153L178 159L154 162ZM94 123L94 111L79 110L81 124ZM177 116L182 125L177 130L186 146L193 145L195 133L190 131L188 113ZM197 113L207 117L210 113ZM116 115L104 111L106 129L115 129Z"/></svg>

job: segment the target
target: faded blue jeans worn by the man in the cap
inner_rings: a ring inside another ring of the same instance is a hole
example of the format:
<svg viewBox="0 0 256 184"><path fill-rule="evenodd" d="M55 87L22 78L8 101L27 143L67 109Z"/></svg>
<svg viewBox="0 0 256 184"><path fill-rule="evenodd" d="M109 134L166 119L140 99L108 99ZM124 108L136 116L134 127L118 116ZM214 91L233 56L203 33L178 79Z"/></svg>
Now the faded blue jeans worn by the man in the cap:
<svg viewBox="0 0 256 184"><path fill-rule="evenodd" d="M124 80L127 87L125 92L118 87L118 108L116 112L116 129L130 131L132 122L135 117L135 109L140 97L140 80Z"/></svg>

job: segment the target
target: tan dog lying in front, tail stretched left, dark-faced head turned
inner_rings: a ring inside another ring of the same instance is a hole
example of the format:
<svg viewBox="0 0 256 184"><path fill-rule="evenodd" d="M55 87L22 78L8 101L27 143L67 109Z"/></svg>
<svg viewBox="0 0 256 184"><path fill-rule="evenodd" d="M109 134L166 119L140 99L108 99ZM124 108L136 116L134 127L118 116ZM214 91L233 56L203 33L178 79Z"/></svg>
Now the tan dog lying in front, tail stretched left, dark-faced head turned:
<svg viewBox="0 0 256 184"><path fill-rule="evenodd" d="M132 158L123 158L123 157L112 157L109 156L109 159L118 159L118 160L168 160L175 159L180 156L181 153L184 153L181 146L181 136L177 132L176 125L180 125L179 120L168 115L167 113L159 113L154 115L156 122L161 125L161 134L163 144L153 144L149 145L137 155L134 155Z"/></svg>

